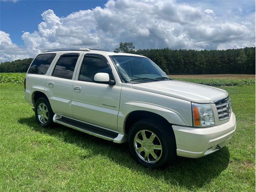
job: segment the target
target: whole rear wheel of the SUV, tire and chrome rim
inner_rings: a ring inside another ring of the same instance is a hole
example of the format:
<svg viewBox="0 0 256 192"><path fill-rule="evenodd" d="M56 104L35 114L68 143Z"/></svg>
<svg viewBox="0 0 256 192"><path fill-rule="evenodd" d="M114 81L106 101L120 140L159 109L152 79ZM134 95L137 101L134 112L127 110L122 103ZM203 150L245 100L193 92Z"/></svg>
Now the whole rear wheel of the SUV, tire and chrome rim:
<svg viewBox="0 0 256 192"><path fill-rule="evenodd" d="M54 116L54 112L52 111L50 103L46 98L40 97L36 101L35 116L36 121L42 127L48 127L53 124L52 118Z"/></svg>

